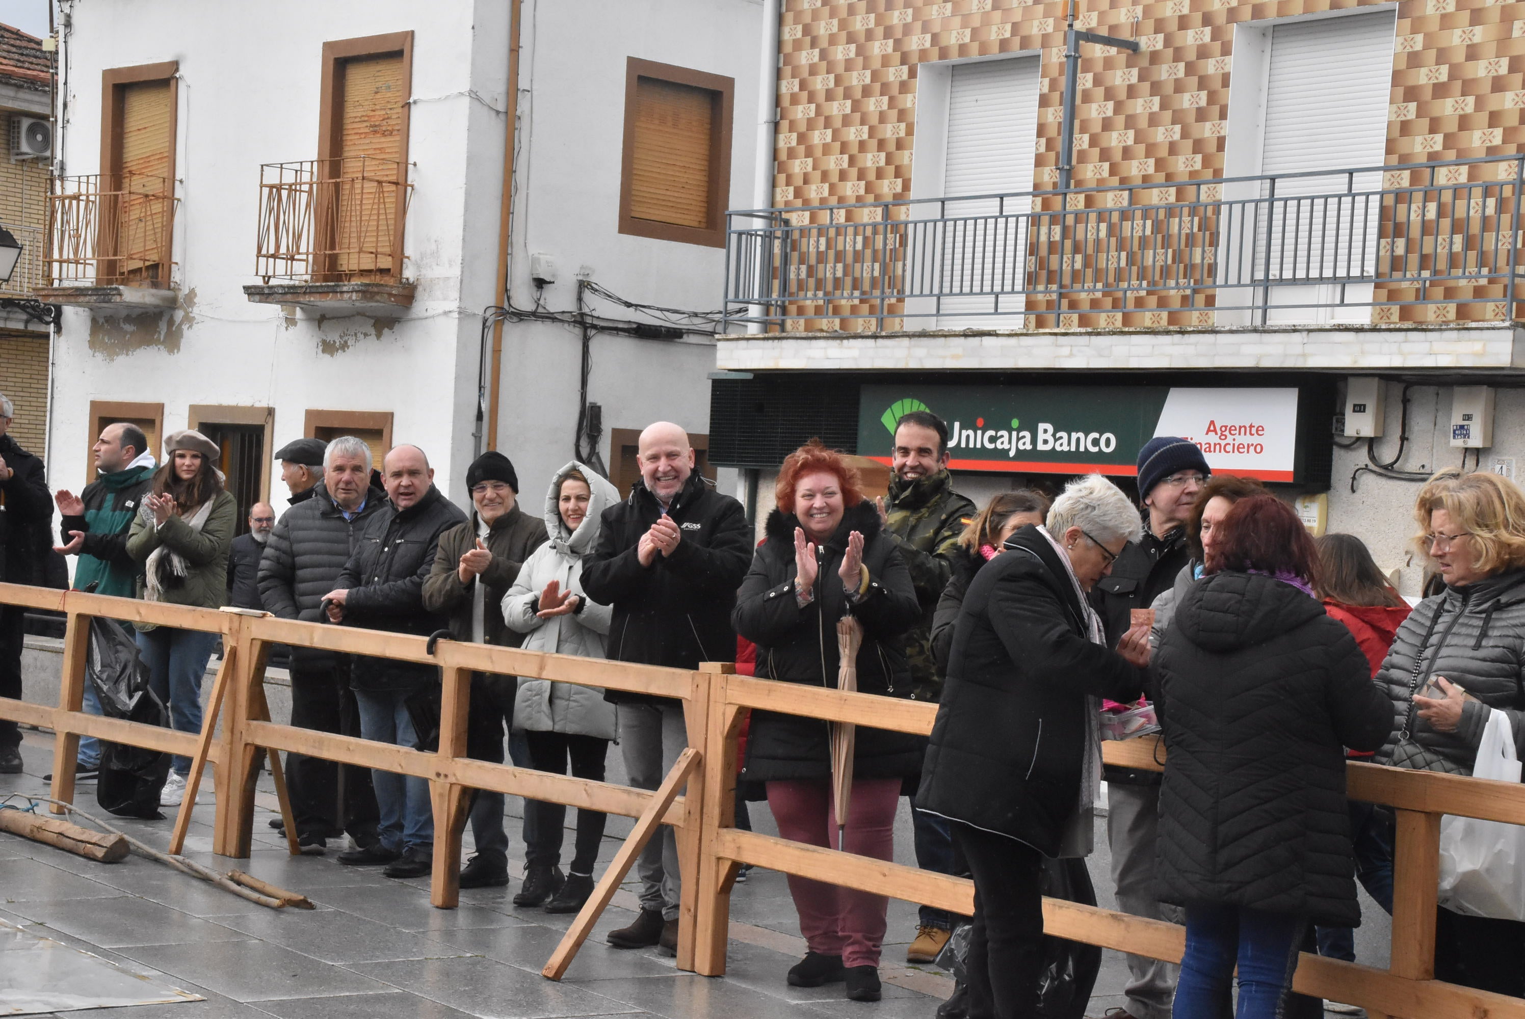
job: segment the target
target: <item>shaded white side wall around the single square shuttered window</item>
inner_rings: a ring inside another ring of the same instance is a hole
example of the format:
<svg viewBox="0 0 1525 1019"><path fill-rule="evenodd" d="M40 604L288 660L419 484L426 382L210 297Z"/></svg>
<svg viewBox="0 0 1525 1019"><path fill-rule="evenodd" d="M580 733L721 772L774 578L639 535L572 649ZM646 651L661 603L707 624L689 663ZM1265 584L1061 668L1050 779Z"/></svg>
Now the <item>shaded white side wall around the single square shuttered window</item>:
<svg viewBox="0 0 1525 1019"><path fill-rule="evenodd" d="M759 0L586 0L525 5L518 194L511 296L518 308L573 311L578 275L621 297L692 311L720 307L724 250L619 233L621 153L628 56L735 79L727 207L750 203L756 153ZM496 223L496 220L494 220ZM537 293L529 256L551 255L557 282ZM538 305L537 305L538 301ZM610 319L656 322L592 299ZM552 471L572 459L578 416L581 334L557 322L503 329L499 448L540 505ZM587 400L602 404L602 455L612 429L671 419L709 432L712 342L592 340ZM732 491L732 471L720 479Z"/></svg>

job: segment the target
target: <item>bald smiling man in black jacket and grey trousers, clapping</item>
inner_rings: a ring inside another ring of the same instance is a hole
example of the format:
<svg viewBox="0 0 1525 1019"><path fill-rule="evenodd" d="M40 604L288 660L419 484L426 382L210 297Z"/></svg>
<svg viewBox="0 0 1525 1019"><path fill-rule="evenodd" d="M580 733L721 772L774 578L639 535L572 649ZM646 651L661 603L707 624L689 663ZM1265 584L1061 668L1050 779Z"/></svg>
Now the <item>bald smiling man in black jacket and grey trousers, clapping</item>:
<svg viewBox="0 0 1525 1019"><path fill-rule="evenodd" d="M730 496L694 473L688 433L659 421L640 433L640 481L604 511L583 589L613 606L608 657L671 668L730 662L730 610L752 561L752 528ZM683 705L663 697L605 694L619 705L619 747L630 784L656 789L688 746ZM679 868L671 828L640 854L640 915L612 931L616 949L660 944L677 952Z"/></svg>

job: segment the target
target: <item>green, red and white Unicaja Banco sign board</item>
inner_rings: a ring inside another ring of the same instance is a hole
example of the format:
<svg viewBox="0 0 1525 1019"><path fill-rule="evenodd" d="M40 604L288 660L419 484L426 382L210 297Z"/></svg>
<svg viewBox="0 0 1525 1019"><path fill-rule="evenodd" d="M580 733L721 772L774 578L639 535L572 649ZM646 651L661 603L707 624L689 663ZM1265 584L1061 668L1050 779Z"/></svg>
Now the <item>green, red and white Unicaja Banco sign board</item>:
<svg viewBox="0 0 1525 1019"><path fill-rule="evenodd" d="M1135 474L1156 435L1197 442L1215 471L1293 481L1298 391L1191 386L863 386L859 453L889 462L895 421L949 423L953 470Z"/></svg>

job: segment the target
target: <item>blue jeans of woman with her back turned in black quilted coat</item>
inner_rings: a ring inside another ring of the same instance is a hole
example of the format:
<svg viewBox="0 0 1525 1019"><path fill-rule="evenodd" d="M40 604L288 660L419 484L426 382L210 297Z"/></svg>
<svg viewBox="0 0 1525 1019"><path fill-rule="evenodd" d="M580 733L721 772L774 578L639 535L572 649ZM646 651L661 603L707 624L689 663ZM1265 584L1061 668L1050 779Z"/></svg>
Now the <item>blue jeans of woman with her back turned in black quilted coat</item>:
<svg viewBox="0 0 1525 1019"><path fill-rule="evenodd" d="M1243 906L1188 905L1174 1019L1220 1019L1238 963L1238 1019L1279 1019L1307 917Z"/></svg>

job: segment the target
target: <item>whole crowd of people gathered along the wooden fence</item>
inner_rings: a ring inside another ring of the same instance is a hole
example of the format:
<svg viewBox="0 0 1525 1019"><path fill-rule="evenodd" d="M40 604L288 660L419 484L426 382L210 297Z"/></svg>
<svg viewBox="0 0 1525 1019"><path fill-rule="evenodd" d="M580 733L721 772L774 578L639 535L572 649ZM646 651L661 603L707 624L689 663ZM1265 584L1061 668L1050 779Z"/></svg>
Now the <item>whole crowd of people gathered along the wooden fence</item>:
<svg viewBox="0 0 1525 1019"><path fill-rule="evenodd" d="M0 397L0 577L12 583L46 583L52 551L76 557L75 587L101 593L689 670L738 661L811 686L837 685L837 622L852 618L859 691L938 703L930 740L860 726L839 819L830 726L756 711L737 821L766 799L787 839L889 860L910 796L918 865L970 876L976 892L973 917L923 908L907 950L932 961L970 924L946 1019L1048 1014L1045 874L1072 862L1090 894L1103 780L1119 909L1186 927L1179 967L1128 958L1125 1005L1109 1014L1270 1019L1318 1011L1290 990L1298 952L1354 958L1357 877L1392 909L1394 818L1347 801L1345 761L1467 775L1494 712L1525 751L1525 494L1494 474L1441 471L1420 490L1415 548L1434 593L1411 612L1359 538L1315 540L1260 482L1214 476L1174 436L1139 452L1136 502L1092 474L1052 499L1019 490L981 508L953 490L947 426L907 413L883 497L811 441L784 461L761 540L668 423L640 433L628 493L572 461L538 514L497 452L468 467L462 510L418 447L393 447L374 471L358 438L297 439L276 455L290 506L255 505L235 540L220 450L200 432L169 435L159 464L140 429L111 424L96 481L52 494L41 461L5 435L11 413ZM198 731L212 638L136 628L171 723ZM0 610L0 696L20 694L20 610ZM320 647L291 648L288 667L293 725L438 740L438 670ZM1164 772L1104 766L1106 720L1148 705ZM503 761L506 741L520 766L601 780L616 738L630 783L656 789L688 746L682 705L473 676L473 758ZM0 772L20 770L18 743L0 723ZM99 767L93 741L78 767ZM186 769L175 758L163 804L185 795ZM299 755L287 770L303 851L348 834L342 863L430 871L427 783ZM477 793L470 819L461 885L506 885L503 796ZM563 873L564 822L561 805L526 804L515 905L573 912L592 894L604 816L578 810ZM608 941L671 953L682 876L669 828L639 877L639 914ZM843 982L877 1001L888 900L793 876L788 888L808 949L788 984ZM1440 908L1435 966L1525 996L1525 923Z"/></svg>

